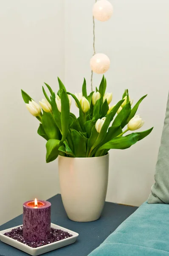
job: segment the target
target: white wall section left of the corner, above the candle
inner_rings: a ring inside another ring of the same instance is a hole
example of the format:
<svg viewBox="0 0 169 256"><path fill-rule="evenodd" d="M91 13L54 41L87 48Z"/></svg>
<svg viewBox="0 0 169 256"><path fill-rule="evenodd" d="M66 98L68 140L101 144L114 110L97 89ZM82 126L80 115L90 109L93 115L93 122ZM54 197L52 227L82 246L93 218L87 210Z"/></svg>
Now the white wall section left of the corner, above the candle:
<svg viewBox="0 0 169 256"><path fill-rule="evenodd" d="M64 78L62 0L0 1L0 224L23 202L59 192L57 163L45 163L45 140L25 108L22 88L36 101L46 81Z"/></svg>

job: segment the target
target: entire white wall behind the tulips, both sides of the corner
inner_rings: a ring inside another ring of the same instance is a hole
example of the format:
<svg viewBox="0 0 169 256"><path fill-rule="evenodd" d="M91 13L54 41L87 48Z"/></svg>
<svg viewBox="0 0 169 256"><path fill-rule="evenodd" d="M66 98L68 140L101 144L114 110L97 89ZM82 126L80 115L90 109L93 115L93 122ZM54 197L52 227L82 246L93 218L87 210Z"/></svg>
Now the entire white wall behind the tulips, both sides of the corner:
<svg viewBox="0 0 169 256"><path fill-rule="evenodd" d="M0 224L22 213L22 203L59 192L56 161L45 163L45 140L25 109L20 89L36 101L43 81L56 76L79 92L83 77L90 92L93 0L0 1ZM130 149L112 150L107 200L140 205L153 183L168 93L168 0L110 0L114 15L96 22L96 50L111 59L106 73L113 104L125 88L152 134ZM65 26L65 31L64 31ZM65 39L65 40L64 40ZM94 75L94 85L101 76ZM77 112L77 109L76 109Z"/></svg>

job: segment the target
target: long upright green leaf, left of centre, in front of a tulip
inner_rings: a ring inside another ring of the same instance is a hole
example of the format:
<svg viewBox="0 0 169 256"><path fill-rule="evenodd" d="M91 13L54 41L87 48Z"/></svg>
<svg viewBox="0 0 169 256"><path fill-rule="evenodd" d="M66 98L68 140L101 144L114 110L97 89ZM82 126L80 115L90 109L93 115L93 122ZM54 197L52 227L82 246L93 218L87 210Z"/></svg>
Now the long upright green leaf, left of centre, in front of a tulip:
<svg viewBox="0 0 169 256"><path fill-rule="evenodd" d="M61 125L62 125L62 141L65 141L68 129L69 129L69 113L70 113L70 105L69 98L65 90L62 90L60 95L61 99Z"/></svg>

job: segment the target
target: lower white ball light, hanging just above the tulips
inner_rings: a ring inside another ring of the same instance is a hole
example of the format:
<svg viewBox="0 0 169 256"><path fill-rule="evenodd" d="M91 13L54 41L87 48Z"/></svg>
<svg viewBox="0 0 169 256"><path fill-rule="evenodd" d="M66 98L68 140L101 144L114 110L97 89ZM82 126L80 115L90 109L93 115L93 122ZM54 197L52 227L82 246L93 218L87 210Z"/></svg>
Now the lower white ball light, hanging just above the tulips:
<svg viewBox="0 0 169 256"><path fill-rule="evenodd" d="M94 73L104 74L110 67L110 59L103 53L96 53L90 59L90 67Z"/></svg>

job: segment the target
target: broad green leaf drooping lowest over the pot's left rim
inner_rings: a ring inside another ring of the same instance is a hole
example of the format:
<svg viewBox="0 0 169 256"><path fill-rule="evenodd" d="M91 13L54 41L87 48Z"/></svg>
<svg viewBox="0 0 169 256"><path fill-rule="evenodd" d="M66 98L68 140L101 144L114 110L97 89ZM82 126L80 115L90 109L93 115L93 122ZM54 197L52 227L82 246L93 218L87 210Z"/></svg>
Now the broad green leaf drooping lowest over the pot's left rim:
<svg viewBox="0 0 169 256"><path fill-rule="evenodd" d="M59 155L60 140L50 139L46 143L46 163L54 161Z"/></svg>

